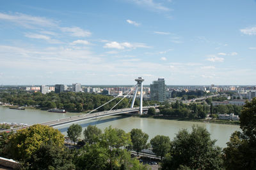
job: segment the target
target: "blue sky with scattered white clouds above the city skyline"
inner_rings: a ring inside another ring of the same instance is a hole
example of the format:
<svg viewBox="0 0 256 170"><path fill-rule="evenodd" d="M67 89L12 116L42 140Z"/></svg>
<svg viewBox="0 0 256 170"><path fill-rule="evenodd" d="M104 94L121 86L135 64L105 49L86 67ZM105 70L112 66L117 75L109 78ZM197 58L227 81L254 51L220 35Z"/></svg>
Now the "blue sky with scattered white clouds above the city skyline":
<svg viewBox="0 0 256 170"><path fill-rule="evenodd" d="M256 0L0 1L0 84L256 85Z"/></svg>

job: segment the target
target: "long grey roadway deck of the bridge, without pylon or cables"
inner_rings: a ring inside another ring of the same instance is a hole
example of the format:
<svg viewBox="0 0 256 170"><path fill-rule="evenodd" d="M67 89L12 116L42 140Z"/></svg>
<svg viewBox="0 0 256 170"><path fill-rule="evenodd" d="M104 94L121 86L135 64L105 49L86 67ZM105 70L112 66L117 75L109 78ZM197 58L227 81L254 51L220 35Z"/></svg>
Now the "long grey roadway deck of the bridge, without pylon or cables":
<svg viewBox="0 0 256 170"><path fill-rule="evenodd" d="M143 111L148 110L148 108L151 108L154 106L144 106ZM111 110L111 111L99 111L95 113L90 113L90 114L84 114L84 115L79 115L79 116L74 116L74 117L69 117L69 118L61 118L59 120L52 120L49 122L44 122L41 123L41 125L49 125L50 127L57 127L59 125L64 125L64 124L71 124L75 122L80 122L84 120L91 120L93 118L100 118L100 117L108 117L111 115L118 115L122 113L131 113L135 111L139 111L140 107L136 108L124 108L124 109L119 109L119 110ZM49 113L51 114L51 113ZM31 125L28 125L26 127L18 127L18 128L13 128L13 129L6 129L0 132L10 132L10 131L17 131L19 129L24 129L27 127L30 127Z"/></svg>

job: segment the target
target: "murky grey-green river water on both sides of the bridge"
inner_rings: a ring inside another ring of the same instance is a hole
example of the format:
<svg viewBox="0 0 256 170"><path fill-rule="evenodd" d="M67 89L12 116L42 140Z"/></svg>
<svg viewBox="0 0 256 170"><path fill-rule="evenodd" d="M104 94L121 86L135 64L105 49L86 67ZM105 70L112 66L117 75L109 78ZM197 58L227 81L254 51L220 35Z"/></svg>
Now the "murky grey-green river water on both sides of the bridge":
<svg viewBox="0 0 256 170"><path fill-rule="evenodd" d="M41 110L10 110L9 108L0 107L0 123L1 122L12 122L22 124L38 124L47 122L49 120L57 120L60 118L72 117L75 115L81 115L81 113L52 113ZM102 131L111 125L118 129L123 129L125 132L131 131L133 128L141 129L146 132L149 136L149 140L154 136L160 134L169 136L170 139L175 138L175 134L181 129L188 129L191 131L193 125L199 125L205 127L211 134L211 139L217 139L216 145L221 148L226 147L226 143L229 141L230 135L234 131L240 131L239 125L225 125L225 124L209 124L203 122L187 122L177 120L162 120L154 118L140 118L140 117L122 117L122 116L111 116L98 118L97 120L83 120L77 122L84 129L88 125L96 125ZM67 136L67 128L71 124L60 125L55 127L59 129L61 133ZM83 138L83 134L81 135Z"/></svg>

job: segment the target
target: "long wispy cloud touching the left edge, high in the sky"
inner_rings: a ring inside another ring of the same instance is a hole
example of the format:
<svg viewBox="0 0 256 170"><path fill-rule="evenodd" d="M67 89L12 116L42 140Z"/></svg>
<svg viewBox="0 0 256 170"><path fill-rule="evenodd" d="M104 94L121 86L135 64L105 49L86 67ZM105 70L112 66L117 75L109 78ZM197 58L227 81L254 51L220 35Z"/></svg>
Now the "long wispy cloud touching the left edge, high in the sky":
<svg viewBox="0 0 256 170"><path fill-rule="evenodd" d="M25 15L22 13L15 13L15 15L0 13L0 20L7 20L9 22L13 22L15 24L22 25L24 27L56 27L56 22L53 20L49 20L44 17L33 17L31 15Z"/></svg>

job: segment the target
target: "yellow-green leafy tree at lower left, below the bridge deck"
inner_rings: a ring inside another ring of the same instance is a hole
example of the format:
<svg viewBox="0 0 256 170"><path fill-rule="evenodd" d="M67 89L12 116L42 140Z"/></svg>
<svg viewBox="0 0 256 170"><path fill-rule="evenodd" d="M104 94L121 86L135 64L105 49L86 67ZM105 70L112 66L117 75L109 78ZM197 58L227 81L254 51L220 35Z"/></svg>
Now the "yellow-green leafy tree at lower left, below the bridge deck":
<svg viewBox="0 0 256 170"><path fill-rule="evenodd" d="M12 159L25 160L31 157L43 143L62 146L64 136L58 129L36 124L12 134L9 138L8 152Z"/></svg>

